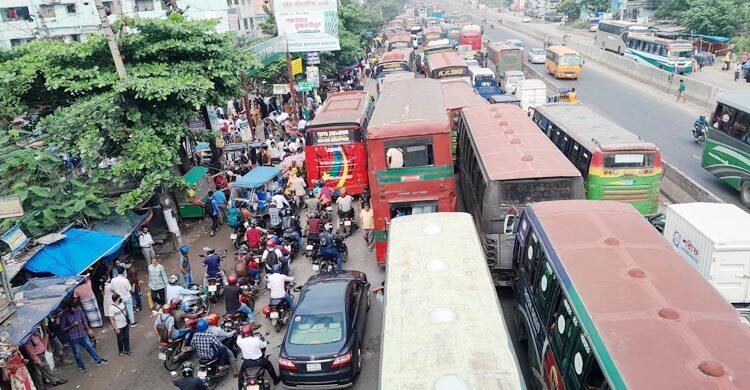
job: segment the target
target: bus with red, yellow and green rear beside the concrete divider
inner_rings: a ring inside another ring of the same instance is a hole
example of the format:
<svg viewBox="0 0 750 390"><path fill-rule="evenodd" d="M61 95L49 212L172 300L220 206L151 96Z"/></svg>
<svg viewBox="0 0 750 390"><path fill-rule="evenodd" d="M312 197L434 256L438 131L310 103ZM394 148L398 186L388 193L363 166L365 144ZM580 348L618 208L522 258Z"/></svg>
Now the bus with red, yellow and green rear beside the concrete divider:
<svg viewBox="0 0 750 390"><path fill-rule="evenodd" d="M574 103L537 106L534 122L583 175L586 198L618 200L644 215L659 207L656 145Z"/></svg>

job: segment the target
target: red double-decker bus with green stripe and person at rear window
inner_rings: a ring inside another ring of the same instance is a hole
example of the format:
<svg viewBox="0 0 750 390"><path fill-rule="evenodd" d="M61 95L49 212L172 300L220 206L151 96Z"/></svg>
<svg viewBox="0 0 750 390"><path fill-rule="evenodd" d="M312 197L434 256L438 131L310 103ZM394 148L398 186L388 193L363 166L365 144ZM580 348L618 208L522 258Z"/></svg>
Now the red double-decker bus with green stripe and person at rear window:
<svg viewBox="0 0 750 390"><path fill-rule="evenodd" d="M425 99L425 96L438 99ZM451 133L440 81L384 88L367 129L375 258L383 264L392 218L456 210Z"/></svg>

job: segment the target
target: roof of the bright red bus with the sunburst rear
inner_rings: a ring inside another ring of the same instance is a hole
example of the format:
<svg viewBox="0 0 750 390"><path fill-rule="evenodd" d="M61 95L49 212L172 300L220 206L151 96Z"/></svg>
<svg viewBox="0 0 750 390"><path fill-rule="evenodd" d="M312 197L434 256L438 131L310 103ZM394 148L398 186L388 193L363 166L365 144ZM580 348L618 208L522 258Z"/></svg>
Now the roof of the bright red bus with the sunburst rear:
<svg viewBox="0 0 750 390"><path fill-rule="evenodd" d="M344 91L332 94L323 104L320 114L307 125L308 131L330 126L362 125L367 115L370 93Z"/></svg>

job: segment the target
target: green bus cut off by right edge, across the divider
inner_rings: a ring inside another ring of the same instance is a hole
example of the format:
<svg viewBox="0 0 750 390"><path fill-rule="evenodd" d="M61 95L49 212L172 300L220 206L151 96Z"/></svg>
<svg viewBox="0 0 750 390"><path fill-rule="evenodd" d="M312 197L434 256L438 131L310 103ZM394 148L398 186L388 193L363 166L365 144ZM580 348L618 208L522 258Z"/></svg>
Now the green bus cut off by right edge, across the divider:
<svg viewBox="0 0 750 390"><path fill-rule="evenodd" d="M750 92L724 92L716 100L701 166L739 190L750 207Z"/></svg>

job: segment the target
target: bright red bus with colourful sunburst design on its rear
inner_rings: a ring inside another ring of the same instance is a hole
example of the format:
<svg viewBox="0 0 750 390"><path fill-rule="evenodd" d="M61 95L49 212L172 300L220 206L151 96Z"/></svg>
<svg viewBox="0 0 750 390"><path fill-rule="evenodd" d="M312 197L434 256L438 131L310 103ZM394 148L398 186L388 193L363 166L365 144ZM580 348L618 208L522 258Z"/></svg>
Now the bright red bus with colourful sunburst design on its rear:
<svg viewBox="0 0 750 390"><path fill-rule="evenodd" d="M364 134L374 109L367 91L346 91L328 97L305 135L307 184L325 180L332 188L346 187L352 195L367 185Z"/></svg>

